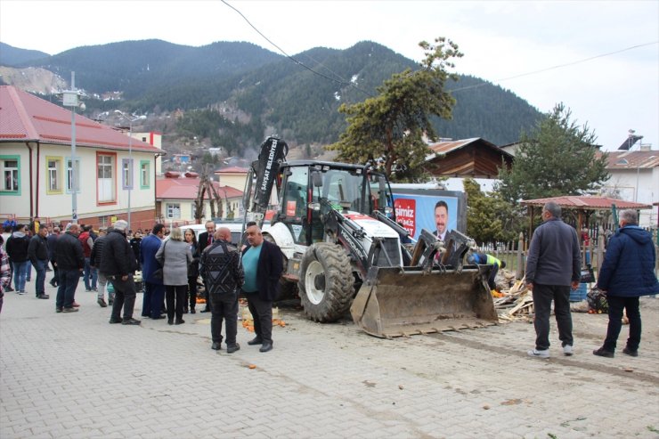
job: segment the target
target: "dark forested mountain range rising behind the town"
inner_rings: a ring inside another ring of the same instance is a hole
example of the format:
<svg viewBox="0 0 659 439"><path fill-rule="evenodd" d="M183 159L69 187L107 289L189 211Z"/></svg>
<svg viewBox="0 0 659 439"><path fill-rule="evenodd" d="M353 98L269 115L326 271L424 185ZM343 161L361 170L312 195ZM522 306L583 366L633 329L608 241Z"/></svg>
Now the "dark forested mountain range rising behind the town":
<svg viewBox="0 0 659 439"><path fill-rule="evenodd" d="M4 63L0 53L0 64ZM346 127L344 115L338 113L342 103L362 102L376 95L378 85L394 73L419 67L368 41L346 50L317 47L288 58L250 43L191 47L161 40L78 47L20 66L49 69L67 80L73 70L77 87L86 93L119 92L122 97L119 102L88 97L88 112L120 108L158 115L178 109L221 109L218 117L227 120L218 124L219 136L213 137L229 142L236 131L249 133L248 139L234 140L246 143L233 145L239 149L273 133L294 143L336 142ZM456 90L457 104L452 120L436 121L442 137L515 142L520 131L540 117L514 93L477 77L460 76L449 87ZM183 131L195 126L191 118ZM204 118L206 126L208 115Z"/></svg>

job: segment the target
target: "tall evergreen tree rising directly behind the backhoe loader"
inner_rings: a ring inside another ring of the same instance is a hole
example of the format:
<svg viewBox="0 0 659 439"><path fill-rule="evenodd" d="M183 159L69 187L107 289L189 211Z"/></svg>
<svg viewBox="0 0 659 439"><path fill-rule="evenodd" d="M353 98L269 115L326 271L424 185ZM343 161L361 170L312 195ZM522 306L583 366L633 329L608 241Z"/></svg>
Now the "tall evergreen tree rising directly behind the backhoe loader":
<svg viewBox="0 0 659 439"><path fill-rule="evenodd" d="M380 85L377 96L339 107L348 126L328 147L338 151L339 160L370 162L395 180L414 180L421 174L428 154L422 135L435 139L432 116L451 118L455 100L445 85L457 75L447 69L454 67L452 58L462 56L451 40L440 37L435 43L419 43L426 53L421 69L405 69Z"/></svg>

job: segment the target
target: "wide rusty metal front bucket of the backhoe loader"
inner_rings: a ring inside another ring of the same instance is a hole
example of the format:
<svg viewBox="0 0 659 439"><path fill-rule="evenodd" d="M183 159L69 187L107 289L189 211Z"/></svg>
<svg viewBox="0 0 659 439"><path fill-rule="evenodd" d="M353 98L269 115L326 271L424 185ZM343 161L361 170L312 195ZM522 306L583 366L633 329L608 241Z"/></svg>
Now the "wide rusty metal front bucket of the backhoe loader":
<svg viewBox="0 0 659 439"><path fill-rule="evenodd" d="M372 267L350 313L364 331L386 338L493 325L498 316L487 286L491 269Z"/></svg>

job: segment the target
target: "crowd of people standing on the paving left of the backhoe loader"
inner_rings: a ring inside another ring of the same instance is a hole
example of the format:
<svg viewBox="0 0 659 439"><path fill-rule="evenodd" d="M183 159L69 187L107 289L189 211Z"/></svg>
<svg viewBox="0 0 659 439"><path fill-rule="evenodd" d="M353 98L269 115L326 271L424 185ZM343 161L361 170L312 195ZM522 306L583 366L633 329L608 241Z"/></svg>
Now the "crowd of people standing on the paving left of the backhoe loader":
<svg viewBox="0 0 659 439"><path fill-rule="evenodd" d="M256 332L248 345L260 345L261 352L273 349L273 299L283 259L280 248L264 241L256 224L248 223L242 248L232 245L229 229L216 230L212 221L199 241L191 229L176 227L169 232L165 224L155 224L143 238L142 231L127 228L124 220L98 232L91 225L75 223L66 224L63 232L38 221L7 225L0 242L0 310L4 292L27 293L26 282L34 268L39 299L50 298L45 294L45 278L46 272L53 272L50 284L57 288L56 313L78 312L76 291L82 278L85 291L97 293L98 305L111 306L110 324L141 324L134 318L139 288L142 318L167 318L167 324L180 325L185 323L184 313L196 313L200 275L206 299L201 312L211 313L211 348L222 348L224 323L227 353L240 349L238 298L244 295ZM135 281L138 271L142 282Z"/></svg>

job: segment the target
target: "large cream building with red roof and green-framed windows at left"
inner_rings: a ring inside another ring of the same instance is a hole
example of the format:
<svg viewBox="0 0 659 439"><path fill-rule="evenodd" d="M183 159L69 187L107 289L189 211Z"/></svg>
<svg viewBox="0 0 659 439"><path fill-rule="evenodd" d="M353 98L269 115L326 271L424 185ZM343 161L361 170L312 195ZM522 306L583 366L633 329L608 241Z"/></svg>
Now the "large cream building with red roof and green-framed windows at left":
<svg viewBox="0 0 659 439"><path fill-rule="evenodd" d="M0 86L0 217L69 222L75 191L80 223L127 219L130 204L130 227L150 228L156 217L156 160L164 151L76 115L72 157L71 116L30 93Z"/></svg>

